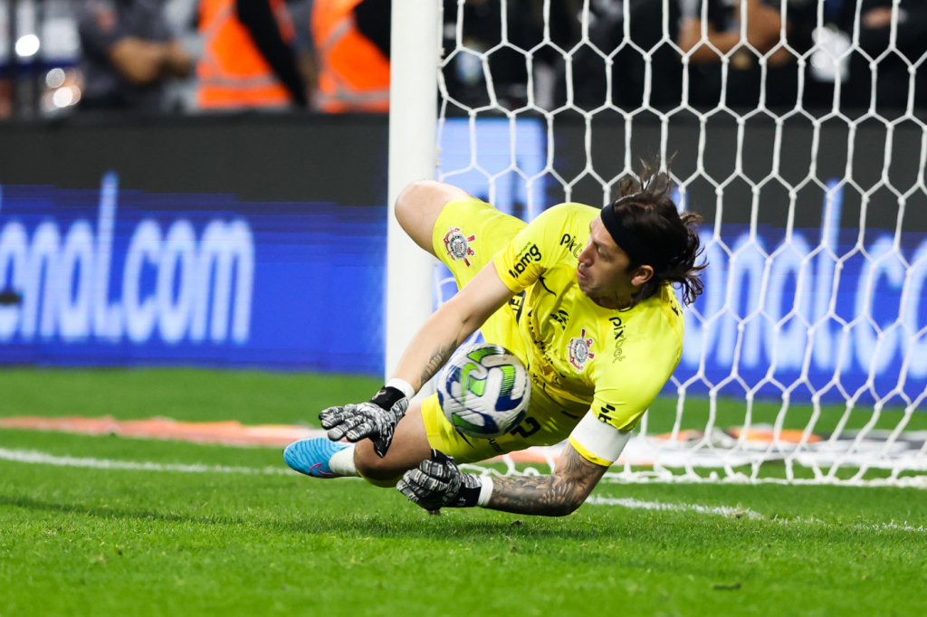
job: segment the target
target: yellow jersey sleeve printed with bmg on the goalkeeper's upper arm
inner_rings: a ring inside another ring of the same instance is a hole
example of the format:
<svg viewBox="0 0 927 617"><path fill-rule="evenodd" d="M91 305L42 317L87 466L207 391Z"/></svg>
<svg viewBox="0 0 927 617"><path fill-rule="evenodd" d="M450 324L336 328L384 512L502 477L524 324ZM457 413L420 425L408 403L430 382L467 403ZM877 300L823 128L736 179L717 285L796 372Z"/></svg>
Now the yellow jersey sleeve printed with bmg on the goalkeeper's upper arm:
<svg viewBox="0 0 927 617"><path fill-rule="evenodd" d="M588 207L561 204L545 210L492 259L502 283L513 293L525 291L569 252L569 244L561 239L577 208Z"/></svg>

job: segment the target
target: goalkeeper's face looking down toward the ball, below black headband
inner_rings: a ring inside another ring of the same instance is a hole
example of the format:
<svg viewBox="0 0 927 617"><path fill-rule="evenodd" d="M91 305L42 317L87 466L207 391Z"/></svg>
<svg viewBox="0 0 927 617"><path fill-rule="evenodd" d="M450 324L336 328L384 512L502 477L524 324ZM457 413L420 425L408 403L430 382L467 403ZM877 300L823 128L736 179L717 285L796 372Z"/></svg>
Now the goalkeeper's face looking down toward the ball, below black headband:
<svg viewBox="0 0 927 617"><path fill-rule="evenodd" d="M602 217L592 220L589 241L579 253L579 290L603 306L611 308L616 301L620 306L629 301L630 296L653 274L650 266L629 271L630 265L628 254L617 246L611 233L605 229Z"/></svg>

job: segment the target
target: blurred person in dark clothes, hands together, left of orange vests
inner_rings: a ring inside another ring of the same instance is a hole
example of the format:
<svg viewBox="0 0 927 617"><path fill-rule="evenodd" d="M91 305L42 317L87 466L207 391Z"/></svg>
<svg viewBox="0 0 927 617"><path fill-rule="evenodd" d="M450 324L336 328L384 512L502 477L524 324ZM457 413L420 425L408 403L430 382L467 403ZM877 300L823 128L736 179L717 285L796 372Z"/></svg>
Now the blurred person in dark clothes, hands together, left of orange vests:
<svg viewBox="0 0 927 617"><path fill-rule="evenodd" d="M172 36L155 0L81 0L81 109L157 111L165 80L193 64Z"/></svg>

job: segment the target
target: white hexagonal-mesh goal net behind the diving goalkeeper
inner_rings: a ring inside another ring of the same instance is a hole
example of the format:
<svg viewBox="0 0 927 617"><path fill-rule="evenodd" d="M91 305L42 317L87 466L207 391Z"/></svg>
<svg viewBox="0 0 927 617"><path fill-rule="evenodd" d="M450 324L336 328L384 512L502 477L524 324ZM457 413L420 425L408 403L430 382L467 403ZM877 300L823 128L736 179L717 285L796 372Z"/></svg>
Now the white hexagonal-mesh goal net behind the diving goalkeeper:
<svg viewBox="0 0 927 617"><path fill-rule="evenodd" d="M531 220L659 159L705 219L679 368L607 478L927 485L927 49L897 3L832 4L443 4L438 180Z"/></svg>

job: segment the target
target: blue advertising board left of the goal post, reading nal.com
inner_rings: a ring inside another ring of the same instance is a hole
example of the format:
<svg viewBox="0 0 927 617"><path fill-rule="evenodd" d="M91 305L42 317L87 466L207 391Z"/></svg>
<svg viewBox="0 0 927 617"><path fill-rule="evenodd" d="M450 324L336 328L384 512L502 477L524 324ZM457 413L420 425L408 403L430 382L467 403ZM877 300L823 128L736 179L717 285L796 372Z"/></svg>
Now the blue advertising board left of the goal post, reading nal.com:
<svg viewBox="0 0 927 617"><path fill-rule="evenodd" d="M5 186L0 361L382 371L386 208Z"/></svg>

